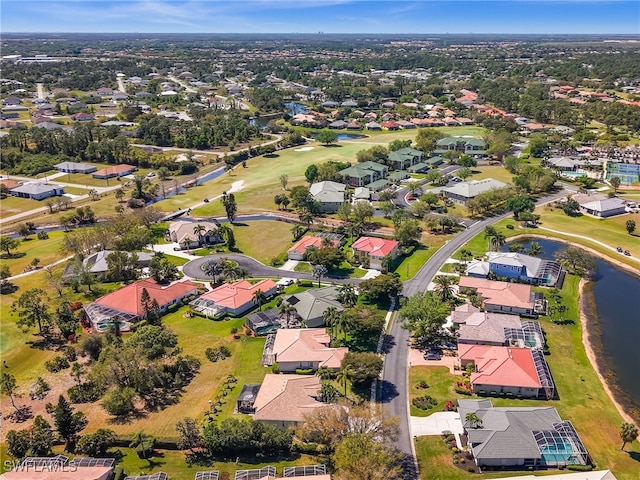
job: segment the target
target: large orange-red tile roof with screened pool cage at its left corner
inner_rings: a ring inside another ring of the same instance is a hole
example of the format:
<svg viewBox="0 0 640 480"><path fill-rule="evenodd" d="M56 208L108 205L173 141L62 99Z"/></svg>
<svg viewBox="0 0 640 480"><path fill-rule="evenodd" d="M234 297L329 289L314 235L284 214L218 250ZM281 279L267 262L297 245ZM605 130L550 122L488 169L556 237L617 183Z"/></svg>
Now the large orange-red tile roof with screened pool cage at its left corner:
<svg viewBox="0 0 640 480"><path fill-rule="evenodd" d="M100 297L95 303L111 307L122 312L132 313L134 315L144 315L142 303L142 290L146 289L151 300L158 302L160 307L169 305L174 300L188 295L190 292L196 292L198 285L186 280L184 282L176 282L169 286L160 285L150 278L139 280L122 287L120 290L111 292L104 297Z"/></svg>

